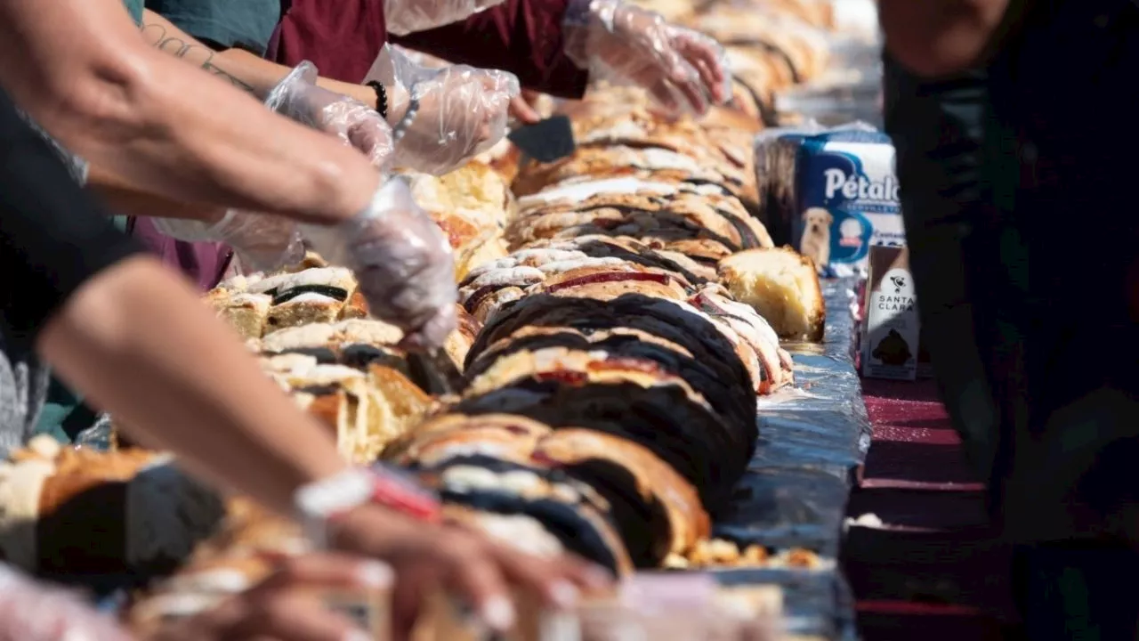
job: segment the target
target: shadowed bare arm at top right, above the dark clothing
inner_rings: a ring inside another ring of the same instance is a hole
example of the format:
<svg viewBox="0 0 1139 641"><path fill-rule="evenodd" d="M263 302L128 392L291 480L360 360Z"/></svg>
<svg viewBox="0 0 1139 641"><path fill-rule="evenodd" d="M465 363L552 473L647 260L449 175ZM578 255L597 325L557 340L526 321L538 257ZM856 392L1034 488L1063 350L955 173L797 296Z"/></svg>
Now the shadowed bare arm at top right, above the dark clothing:
<svg viewBox="0 0 1139 641"><path fill-rule="evenodd" d="M937 78L982 64L1009 22L1009 6L1010 0L878 0L878 17L886 50L913 73Z"/></svg>

